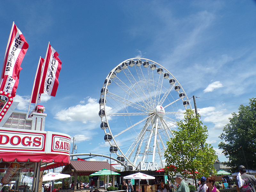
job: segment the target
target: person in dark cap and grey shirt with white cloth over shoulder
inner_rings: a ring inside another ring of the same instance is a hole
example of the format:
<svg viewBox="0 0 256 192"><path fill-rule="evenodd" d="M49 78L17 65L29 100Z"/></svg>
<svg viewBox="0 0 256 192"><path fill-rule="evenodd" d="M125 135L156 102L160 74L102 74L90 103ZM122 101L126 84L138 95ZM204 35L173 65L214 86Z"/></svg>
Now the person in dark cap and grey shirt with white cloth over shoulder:
<svg viewBox="0 0 256 192"><path fill-rule="evenodd" d="M256 178L252 175L248 175L245 173L246 170L245 170L244 165L240 165L238 167L238 171L239 171L239 173L235 180L236 191L237 192L256 192ZM239 180L240 180L240 182L239 182ZM238 182L239 182L239 184L238 184Z"/></svg>

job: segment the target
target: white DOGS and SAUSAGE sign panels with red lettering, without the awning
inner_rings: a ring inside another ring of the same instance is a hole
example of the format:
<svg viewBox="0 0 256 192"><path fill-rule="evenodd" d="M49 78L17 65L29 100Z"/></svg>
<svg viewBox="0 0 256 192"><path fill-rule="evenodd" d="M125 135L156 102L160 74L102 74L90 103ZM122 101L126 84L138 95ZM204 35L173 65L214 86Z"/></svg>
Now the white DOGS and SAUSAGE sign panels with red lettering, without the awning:
<svg viewBox="0 0 256 192"><path fill-rule="evenodd" d="M0 129L1 152L70 154L70 136L46 131Z"/></svg>

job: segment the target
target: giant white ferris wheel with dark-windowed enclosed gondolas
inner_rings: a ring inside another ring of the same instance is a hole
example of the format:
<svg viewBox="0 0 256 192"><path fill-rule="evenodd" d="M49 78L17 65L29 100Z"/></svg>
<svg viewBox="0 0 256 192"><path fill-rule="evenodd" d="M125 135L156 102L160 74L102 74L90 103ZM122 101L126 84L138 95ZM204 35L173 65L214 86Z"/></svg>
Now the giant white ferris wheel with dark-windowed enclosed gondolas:
<svg viewBox="0 0 256 192"><path fill-rule="evenodd" d="M110 152L128 161L164 167L166 141L177 121L191 108L177 79L163 66L145 58L121 62L106 77L100 91L100 127Z"/></svg>

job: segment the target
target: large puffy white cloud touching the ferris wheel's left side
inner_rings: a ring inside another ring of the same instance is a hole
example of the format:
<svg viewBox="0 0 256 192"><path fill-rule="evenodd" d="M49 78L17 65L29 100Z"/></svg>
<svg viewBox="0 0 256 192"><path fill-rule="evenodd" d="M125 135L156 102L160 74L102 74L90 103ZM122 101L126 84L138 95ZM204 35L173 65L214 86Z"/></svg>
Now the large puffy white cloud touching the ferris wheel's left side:
<svg viewBox="0 0 256 192"><path fill-rule="evenodd" d="M80 121L84 124L88 122L98 123L100 122L99 110L97 100L89 98L86 105L76 105L68 109L63 109L56 113L54 118L65 122Z"/></svg>

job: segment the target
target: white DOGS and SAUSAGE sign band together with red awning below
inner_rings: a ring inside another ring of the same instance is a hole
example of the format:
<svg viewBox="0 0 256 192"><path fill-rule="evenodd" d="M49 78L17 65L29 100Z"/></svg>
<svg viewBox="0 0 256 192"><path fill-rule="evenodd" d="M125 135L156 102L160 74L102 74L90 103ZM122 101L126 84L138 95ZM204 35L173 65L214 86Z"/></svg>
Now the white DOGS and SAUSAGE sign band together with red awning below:
<svg viewBox="0 0 256 192"><path fill-rule="evenodd" d="M0 155L3 161L40 162L44 156L46 162L67 163L70 140L64 133L0 127Z"/></svg>

